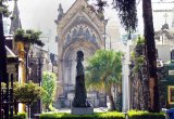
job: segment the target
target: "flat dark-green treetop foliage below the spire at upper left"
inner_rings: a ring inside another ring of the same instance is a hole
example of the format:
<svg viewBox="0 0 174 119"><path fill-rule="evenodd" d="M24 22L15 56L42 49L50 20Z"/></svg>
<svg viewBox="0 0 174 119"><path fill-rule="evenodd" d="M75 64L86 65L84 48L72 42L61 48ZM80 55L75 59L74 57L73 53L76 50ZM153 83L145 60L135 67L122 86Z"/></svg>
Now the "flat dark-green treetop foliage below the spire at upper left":
<svg viewBox="0 0 174 119"><path fill-rule="evenodd" d="M40 31L35 31L33 29L17 29L14 34L14 40L16 42L24 42L25 44L37 44L39 47L44 47L45 43L39 40L40 35Z"/></svg>

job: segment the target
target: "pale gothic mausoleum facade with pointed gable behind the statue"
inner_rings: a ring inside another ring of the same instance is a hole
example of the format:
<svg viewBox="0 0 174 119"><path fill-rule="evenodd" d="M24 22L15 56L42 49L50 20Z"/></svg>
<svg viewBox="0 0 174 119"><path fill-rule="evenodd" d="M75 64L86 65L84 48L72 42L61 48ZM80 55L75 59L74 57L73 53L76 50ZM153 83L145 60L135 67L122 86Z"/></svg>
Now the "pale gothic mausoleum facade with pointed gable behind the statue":
<svg viewBox="0 0 174 119"><path fill-rule="evenodd" d="M57 24L58 41L58 101L65 106L71 105L74 97L76 76L76 52L84 52L84 66L88 57L99 49L104 49L104 21L101 18L87 0L76 0L74 4L63 12L62 5L58 9ZM98 93L88 93L88 97L100 104Z"/></svg>

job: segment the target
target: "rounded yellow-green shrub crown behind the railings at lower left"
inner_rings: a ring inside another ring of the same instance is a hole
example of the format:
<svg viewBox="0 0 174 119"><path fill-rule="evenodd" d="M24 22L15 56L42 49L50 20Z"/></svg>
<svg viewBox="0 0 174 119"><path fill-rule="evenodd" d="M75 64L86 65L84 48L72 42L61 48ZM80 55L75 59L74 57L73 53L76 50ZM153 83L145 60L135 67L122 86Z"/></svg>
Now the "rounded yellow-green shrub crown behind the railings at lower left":
<svg viewBox="0 0 174 119"><path fill-rule="evenodd" d="M42 93L44 89L32 81L28 83L14 83L13 96L17 102L32 104L40 98Z"/></svg>

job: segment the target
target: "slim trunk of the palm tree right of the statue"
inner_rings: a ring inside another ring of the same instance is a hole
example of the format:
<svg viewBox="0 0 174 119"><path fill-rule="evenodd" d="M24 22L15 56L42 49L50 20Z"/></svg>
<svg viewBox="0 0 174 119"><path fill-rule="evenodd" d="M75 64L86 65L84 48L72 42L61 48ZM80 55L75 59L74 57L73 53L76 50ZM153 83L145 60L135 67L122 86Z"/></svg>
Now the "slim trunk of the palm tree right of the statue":
<svg viewBox="0 0 174 119"><path fill-rule="evenodd" d="M112 87L110 87L108 90L108 95L109 95L109 100L110 100L110 110L115 110L116 108L115 108L115 103L113 101L113 95L112 95L111 89L112 89Z"/></svg>

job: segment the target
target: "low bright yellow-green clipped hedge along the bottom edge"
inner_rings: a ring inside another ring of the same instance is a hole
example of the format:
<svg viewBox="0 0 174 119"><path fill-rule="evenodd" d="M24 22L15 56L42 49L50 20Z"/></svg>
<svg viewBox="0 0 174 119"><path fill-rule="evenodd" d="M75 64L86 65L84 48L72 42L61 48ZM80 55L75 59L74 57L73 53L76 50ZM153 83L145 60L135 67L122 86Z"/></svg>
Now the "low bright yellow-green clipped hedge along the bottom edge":
<svg viewBox="0 0 174 119"><path fill-rule="evenodd" d="M40 119L125 119L122 113L95 113L94 115L71 115L66 113L41 114ZM163 113L128 111L129 119L165 119Z"/></svg>

